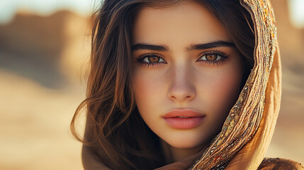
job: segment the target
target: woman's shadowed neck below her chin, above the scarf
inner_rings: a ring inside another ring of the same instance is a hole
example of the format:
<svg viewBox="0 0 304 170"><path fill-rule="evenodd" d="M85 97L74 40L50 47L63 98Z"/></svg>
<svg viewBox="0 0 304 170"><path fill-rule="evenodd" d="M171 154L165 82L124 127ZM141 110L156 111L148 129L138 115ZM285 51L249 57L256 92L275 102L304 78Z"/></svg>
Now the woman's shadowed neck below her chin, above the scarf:
<svg viewBox="0 0 304 170"><path fill-rule="evenodd" d="M167 164L181 161L182 159L191 157L199 152L203 153L207 149L206 145L193 148L176 148L170 146L167 142L164 142L164 140L161 140L161 144Z"/></svg>

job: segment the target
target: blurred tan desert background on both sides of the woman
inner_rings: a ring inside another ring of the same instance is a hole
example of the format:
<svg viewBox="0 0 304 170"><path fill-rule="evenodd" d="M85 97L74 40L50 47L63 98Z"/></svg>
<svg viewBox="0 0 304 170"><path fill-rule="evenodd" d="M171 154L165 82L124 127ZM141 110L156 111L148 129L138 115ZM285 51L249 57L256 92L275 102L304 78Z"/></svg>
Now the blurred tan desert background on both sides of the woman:
<svg viewBox="0 0 304 170"><path fill-rule="evenodd" d="M291 24L288 1L272 4L283 94L266 156L304 163L304 27ZM83 169L69 123L85 96L90 29L89 15L69 10L0 23L0 169Z"/></svg>

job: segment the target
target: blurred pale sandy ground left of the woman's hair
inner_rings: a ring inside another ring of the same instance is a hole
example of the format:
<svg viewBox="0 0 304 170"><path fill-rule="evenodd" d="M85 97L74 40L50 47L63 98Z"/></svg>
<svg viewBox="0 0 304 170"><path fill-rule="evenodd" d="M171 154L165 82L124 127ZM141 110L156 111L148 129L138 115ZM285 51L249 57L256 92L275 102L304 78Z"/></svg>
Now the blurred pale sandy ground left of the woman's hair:
<svg viewBox="0 0 304 170"><path fill-rule="evenodd" d="M0 169L82 169L69 132L84 88L46 89L0 70Z"/></svg>

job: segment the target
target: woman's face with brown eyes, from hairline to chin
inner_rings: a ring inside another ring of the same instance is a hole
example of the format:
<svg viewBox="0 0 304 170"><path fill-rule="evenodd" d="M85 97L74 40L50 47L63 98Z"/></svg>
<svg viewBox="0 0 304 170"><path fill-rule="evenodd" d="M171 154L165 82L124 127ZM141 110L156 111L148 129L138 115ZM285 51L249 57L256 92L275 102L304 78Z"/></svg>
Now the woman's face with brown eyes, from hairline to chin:
<svg viewBox="0 0 304 170"><path fill-rule="evenodd" d="M143 120L172 147L206 144L241 89L242 59L230 35L194 2L142 8L133 29L132 82Z"/></svg>

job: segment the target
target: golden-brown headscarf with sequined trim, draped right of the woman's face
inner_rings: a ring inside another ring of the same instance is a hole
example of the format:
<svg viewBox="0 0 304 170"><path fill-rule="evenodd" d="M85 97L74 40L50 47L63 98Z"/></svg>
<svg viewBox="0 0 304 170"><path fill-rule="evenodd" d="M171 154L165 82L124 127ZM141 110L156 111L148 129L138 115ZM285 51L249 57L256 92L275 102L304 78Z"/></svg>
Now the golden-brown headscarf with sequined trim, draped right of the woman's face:
<svg viewBox="0 0 304 170"><path fill-rule="evenodd" d="M274 11L269 0L240 0L240 4L254 22L254 67L222 131L191 169L257 169L274 133L281 101Z"/></svg>

